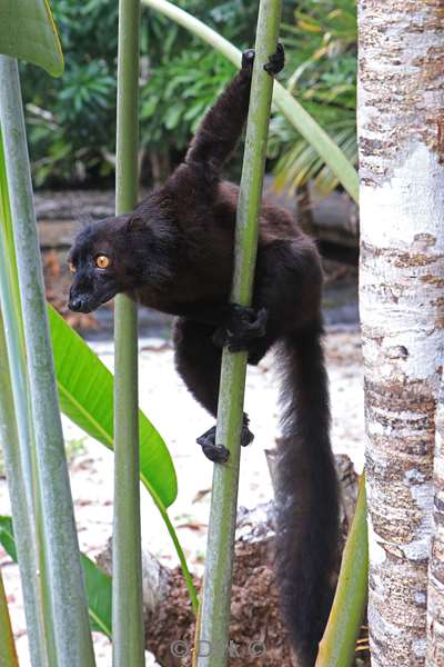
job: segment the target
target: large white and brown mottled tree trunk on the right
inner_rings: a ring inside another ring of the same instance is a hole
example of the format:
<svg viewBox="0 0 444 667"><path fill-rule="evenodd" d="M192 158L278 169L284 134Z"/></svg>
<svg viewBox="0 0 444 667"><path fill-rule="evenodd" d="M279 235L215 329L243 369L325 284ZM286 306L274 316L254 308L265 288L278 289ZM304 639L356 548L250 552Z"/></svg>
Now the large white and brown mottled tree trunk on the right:
<svg viewBox="0 0 444 667"><path fill-rule="evenodd" d="M444 340L443 2L359 0L359 29L372 665L414 667Z"/></svg>

